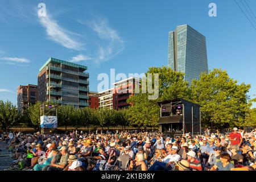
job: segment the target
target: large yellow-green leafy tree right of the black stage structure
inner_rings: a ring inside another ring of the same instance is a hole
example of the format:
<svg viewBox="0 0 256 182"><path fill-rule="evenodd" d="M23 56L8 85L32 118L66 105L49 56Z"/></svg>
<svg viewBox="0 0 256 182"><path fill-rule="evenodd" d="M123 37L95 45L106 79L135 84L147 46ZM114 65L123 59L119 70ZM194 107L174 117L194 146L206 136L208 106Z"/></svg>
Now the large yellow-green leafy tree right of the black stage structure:
<svg viewBox="0 0 256 182"><path fill-rule="evenodd" d="M202 73L193 80L192 101L201 105L201 120L204 126L243 126L249 111L250 85L238 84L222 69Z"/></svg>

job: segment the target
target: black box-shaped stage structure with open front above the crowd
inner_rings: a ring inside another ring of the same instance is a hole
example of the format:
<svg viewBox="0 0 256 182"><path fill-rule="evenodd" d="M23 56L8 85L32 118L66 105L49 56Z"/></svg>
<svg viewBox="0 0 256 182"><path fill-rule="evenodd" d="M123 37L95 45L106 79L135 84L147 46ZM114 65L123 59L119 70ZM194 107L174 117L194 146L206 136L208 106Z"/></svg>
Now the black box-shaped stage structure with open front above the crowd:
<svg viewBox="0 0 256 182"><path fill-rule="evenodd" d="M158 105L160 132L171 137L187 133L201 135L200 105L181 98L158 102Z"/></svg>

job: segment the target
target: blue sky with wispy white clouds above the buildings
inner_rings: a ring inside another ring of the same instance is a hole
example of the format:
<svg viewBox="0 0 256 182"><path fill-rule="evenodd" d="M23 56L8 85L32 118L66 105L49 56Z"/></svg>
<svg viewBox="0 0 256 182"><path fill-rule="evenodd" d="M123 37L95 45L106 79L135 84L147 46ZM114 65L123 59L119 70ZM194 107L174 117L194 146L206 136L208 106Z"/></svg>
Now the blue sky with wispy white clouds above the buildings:
<svg viewBox="0 0 256 182"><path fill-rule="evenodd" d="M208 15L211 2L217 17ZM246 2L256 14L256 2ZM18 85L37 84L49 57L88 66L90 90L112 68L128 75L167 65L168 32L181 24L206 37L209 69L226 69L256 94L256 30L233 0L0 0L0 100L16 104Z"/></svg>

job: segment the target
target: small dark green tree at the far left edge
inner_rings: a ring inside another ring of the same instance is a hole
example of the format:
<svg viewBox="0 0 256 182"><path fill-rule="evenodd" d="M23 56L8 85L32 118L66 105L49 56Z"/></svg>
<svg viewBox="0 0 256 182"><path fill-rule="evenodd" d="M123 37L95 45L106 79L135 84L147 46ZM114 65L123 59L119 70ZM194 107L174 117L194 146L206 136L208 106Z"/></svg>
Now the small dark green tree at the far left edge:
<svg viewBox="0 0 256 182"><path fill-rule="evenodd" d="M18 121L17 108L10 101L0 101L0 127L9 129Z"/></svg>

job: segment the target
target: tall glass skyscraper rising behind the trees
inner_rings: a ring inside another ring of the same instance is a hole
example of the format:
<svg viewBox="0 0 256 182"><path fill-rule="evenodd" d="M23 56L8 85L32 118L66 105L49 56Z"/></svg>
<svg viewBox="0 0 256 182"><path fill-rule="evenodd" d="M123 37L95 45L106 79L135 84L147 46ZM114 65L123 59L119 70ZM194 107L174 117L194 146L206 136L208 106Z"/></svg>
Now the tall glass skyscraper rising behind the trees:
<svg viewBox="0 0 256 182"><path fill-rule="evenodd" d="M187 24L169 32L168 66L185 73L189 85L193 79L199 80L200 73L208 73L205 36Z"/></svg>

